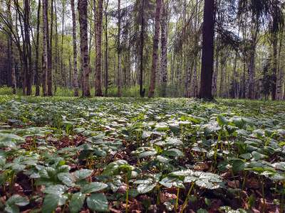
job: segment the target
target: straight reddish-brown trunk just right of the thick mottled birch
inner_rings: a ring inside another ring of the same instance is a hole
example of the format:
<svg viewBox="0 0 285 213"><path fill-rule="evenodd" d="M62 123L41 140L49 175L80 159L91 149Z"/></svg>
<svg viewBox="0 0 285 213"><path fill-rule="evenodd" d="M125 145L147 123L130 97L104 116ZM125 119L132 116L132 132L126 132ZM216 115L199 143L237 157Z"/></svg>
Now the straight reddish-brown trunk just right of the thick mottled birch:
<svg viewBox="0 0 285 213"><path fill-rule="evenodd" d="M103 0L98 1L98 25L97 25L97 48L96 48L96 89L95 96L103 96L101 89L101 57L102 57L102 19L103 19Z"/></svg>

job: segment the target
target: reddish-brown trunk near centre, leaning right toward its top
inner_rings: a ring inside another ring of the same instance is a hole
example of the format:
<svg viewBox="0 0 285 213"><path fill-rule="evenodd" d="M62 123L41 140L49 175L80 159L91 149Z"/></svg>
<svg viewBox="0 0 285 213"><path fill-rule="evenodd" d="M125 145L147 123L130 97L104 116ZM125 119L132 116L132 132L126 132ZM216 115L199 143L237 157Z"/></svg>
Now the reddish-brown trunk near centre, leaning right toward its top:
<svg viewBox="0 0 285 213"><path fill-rule="evenodd" d="M158 43L160 39L160 8L161 0L156 1L156 11L155 11L155 37L153 38L153 51L152 51L152 72L150 78L150 91L148 97L155 97L155 77L157 70L158 61Z"/></svg>

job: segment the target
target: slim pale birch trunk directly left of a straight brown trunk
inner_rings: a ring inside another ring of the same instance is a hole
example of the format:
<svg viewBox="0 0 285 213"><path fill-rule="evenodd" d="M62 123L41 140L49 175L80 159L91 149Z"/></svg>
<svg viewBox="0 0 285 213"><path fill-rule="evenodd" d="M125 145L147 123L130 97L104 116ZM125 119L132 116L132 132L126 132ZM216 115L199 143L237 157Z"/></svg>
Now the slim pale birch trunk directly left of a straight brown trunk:
<svg viewBox="0 0 285 213"><path fill-rule="evenodd" d="M46 43L46 36L47 36L47 25L46 25L46 9L47 9L47 0L43 0L43 96L48 96L47 91L47 84L48 84L48 49Z"/></svg>

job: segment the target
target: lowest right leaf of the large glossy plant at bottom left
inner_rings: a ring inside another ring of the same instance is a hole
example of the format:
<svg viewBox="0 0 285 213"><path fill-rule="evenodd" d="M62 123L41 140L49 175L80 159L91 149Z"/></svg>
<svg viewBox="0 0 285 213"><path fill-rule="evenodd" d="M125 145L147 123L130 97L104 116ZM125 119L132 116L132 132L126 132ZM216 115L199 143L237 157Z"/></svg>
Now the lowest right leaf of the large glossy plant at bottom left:
<svg viewBox="0 0 285 213"><path fill-rule="evenodd" d="M91 194L87 198L87 205L93 211L110 212L109 202L106 196L101 193Z"/></svg>

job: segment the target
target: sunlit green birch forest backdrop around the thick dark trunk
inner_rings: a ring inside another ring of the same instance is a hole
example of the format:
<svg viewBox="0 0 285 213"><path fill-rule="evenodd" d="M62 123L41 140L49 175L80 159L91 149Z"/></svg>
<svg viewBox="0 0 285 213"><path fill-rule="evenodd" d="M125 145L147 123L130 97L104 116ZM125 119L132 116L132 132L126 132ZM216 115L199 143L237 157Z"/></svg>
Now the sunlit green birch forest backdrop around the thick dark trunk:
<svg viewBox="0 0 285 213"><path fill-rule="evenodd" d="M285 99L284 3L212 2L212 96ZM199 0L1 0L0 87L198 97L203 12Z"/></svg>

